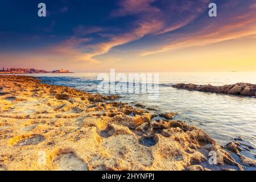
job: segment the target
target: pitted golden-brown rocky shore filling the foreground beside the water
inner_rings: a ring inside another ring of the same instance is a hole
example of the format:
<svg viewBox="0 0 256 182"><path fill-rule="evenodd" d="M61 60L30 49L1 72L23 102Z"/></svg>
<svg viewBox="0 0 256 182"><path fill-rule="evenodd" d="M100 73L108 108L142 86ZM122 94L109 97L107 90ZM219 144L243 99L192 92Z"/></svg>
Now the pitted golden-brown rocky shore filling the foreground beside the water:
<svg viewBox="0 0 256 182"><path fill-rule="evenodd" d="M154 108L133 107L114 101L117 98L42 84L32 77L1 75L0 169L256 167L254 159L242 154L246 149L241 143L221 147L203 130L173 120L176 113L156 114ZM152 121L157 115L166 119ZM216 154L216 165L208 163L210 151Z"/></svg>

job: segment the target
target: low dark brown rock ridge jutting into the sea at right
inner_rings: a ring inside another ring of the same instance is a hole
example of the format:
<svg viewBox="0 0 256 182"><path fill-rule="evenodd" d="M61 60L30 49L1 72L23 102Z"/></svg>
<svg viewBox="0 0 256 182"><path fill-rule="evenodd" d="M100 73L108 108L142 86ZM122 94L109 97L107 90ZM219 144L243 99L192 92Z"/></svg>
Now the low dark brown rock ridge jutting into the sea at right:
<svg viewBox="0 0 256 182"><path fill-rule="evenodd" d="M240 96L256 96L256 85L247 83L237 83L234 85L213 86L213 85L195 85L195 84L176 84L174 88L196 90L200 92L233 94Z"/></svg>

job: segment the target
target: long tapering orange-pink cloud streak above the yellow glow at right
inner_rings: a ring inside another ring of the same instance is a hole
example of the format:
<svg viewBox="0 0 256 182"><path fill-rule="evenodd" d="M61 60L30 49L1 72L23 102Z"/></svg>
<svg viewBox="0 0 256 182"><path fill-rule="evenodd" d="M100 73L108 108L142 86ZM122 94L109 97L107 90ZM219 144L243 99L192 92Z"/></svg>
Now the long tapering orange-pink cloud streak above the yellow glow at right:
<svg viewBox="0 0 256 182"><path fill-rule="evenodd" d="M224 26L216 26L216 24L209 24L207 27L201 29L195 34L178 35L175 41L169 44L164 44L155 47L149 51L143 51L141 56L148 56L155 53L162 53L173 51L177 49L206 46L208 44L223 42L225 40L239 39L256 34L256 17L253 13L237 16L236 21Z"/></svg>

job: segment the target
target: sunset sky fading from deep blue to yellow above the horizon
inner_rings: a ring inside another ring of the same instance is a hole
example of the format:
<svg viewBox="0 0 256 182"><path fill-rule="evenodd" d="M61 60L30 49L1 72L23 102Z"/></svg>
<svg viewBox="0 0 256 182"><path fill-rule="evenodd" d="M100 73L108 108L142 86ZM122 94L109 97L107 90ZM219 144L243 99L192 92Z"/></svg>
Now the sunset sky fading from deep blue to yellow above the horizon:
<svg viewBox="0 0 256 182"><path fill-rule="evenodd" d="M256 1L0 0L0 67L256 71Z"/></svg>

